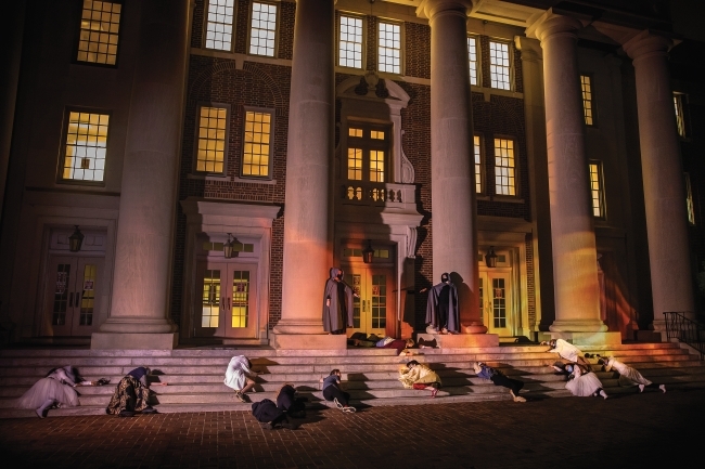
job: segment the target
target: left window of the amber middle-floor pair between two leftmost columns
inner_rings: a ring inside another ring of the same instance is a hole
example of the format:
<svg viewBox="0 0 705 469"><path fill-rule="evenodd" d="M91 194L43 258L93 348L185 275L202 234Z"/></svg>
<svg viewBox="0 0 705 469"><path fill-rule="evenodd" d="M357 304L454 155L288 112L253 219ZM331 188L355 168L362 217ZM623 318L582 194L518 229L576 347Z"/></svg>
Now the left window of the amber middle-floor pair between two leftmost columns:
<svg viewBox="0 0 705 469"><path fill-rule="evenodd" d="M196 171L221 174L225 172L227 134L228 109L201 106Z"/></svg>

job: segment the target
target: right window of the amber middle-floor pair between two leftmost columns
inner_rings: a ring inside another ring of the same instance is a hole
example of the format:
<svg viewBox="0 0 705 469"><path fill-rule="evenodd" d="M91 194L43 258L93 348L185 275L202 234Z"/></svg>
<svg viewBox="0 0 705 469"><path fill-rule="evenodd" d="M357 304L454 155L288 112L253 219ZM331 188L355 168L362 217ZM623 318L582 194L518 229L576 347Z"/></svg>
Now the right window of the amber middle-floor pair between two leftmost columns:
<svg viewBox="0 0 705 469"><path fill-rule="evenodd" d="M242 175L269 178L271 167L272 113L245 112L245 139L242 155Z"/></svg>

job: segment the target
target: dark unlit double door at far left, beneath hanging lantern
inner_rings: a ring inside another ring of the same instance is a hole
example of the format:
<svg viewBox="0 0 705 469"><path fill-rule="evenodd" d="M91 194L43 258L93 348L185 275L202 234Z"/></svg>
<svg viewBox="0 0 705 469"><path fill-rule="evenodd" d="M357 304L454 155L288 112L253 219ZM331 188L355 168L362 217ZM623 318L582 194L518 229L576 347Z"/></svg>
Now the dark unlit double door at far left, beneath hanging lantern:
<svg viewBox="0 0 705 469"><path fill-rule="evenodd" d="M98 330L103 258L51 256L47 285L50 336L86 337Z"/></svg>

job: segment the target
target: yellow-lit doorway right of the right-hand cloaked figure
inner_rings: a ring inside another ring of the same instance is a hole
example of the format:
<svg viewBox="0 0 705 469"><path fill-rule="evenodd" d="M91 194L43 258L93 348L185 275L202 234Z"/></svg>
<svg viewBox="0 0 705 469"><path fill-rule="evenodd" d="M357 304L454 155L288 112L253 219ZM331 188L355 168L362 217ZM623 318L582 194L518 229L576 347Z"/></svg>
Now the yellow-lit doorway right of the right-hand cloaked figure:
<svg viewBox="0 0 705 469"><path fill-rule="evenodd" d="M479 310L489 334L514 335L514 305L510 270L479 271Z"/></svg>

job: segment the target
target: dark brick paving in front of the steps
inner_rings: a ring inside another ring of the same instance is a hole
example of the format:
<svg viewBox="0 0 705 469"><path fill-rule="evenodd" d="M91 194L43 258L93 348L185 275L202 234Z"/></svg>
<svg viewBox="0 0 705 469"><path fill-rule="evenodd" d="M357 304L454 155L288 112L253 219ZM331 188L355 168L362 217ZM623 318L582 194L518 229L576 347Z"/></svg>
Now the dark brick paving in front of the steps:
<svg viewBox="0 0 705 469"><path fill-rule="evenodd" d="M309 411L0 420L4 468L700 467L705 390Z"/></svg>

